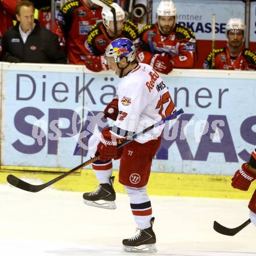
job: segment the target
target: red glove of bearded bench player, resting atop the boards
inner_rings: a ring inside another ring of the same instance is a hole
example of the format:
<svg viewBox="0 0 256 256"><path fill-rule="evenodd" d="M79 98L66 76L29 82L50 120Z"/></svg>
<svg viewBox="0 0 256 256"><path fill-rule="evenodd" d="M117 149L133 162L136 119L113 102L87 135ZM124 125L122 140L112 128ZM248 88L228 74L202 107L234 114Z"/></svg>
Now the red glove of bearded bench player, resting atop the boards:
<svg viewBox="0 0 256 256"><path fill-rule="evenodd" d="M169 55L165 53L152 56L150 66L163 74L169 74L173 69L173 64L169 61Z"/></svg>

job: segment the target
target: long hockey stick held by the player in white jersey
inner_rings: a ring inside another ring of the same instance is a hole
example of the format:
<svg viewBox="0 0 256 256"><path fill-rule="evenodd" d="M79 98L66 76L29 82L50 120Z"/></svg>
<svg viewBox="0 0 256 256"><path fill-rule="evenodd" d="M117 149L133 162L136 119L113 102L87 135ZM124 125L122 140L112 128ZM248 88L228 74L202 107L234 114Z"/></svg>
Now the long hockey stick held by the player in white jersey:
<svg viewBox="0 0 256 256"><path fill-rule="evenodd" d="M137 137L141 136L142 134L147 133L147 131L153 129L154 127L158 127L160 125L163 125L163 123L165 123L168 120L175 119L178 115L180 115L182 113L184 113L182 108L177 112L173 112L172 115L168 116L167 118L162 119L161 121L155 123L154 125L151 125L151 126L147 127L146 129L140 131L139 133L134 134L130 138L127 138L126 141L123 141L123 143L118 145L118 148L123 147L127 143L130 143L131 141L135 140ZM29 191L29 192L38 192L38 191L41 191L41 190L45 189L46 187L51 186L55 182L58 182L58 180L63 179L67 175L70 175L71 173L75 172L76 170L79 170L79 169L83 168L84 166L90 165L90 163L92 163L92 162L94 162L98 159L99 159L99 156L91 158L90 160L88 160L84 163L81 163L81 165L76 166L72 170L69 170L68 172L65 172L62 175L56 177L55 179L50 180L49 182L41 184L41 185L33 185L33 184L30 184L30 183L24 182L23 180L20 180L19 178L15 177L13 175L8 175L7 176L7 181L11 185L17 187L18 189L26 190L26 191Z"/></svg>

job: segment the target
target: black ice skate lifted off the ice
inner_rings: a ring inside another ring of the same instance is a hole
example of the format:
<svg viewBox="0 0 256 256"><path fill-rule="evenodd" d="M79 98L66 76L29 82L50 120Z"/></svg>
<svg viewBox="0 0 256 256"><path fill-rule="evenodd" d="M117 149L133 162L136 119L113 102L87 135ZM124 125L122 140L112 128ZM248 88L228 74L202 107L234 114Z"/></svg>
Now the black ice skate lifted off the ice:
<svg viewBox="0 0 256 256"><path fill-rule="evenodd" d="M113 189L114 179L115 177L109 179L111 185L108 183L99 184L97 190L90 193L84 193L84 204L105 209L116 209L116 204L114 202L116 200L116 193Z"/></svg>

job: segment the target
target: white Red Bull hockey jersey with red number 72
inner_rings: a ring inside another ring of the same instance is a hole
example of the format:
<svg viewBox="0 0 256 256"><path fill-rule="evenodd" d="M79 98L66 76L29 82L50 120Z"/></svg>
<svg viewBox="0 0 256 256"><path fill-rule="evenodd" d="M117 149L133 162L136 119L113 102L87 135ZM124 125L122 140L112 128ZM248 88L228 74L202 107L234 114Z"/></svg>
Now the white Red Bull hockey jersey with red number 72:
<svg viewBox="0 0 256 256"><path fill-rule="evenodd" d="M117 90L119 115L112 133L119 137L133 136L172 114L175 105L166 84L150 65L139 63L123 77ZM155 127L136 139L146 143L156 139L165 125Z"/></svg>

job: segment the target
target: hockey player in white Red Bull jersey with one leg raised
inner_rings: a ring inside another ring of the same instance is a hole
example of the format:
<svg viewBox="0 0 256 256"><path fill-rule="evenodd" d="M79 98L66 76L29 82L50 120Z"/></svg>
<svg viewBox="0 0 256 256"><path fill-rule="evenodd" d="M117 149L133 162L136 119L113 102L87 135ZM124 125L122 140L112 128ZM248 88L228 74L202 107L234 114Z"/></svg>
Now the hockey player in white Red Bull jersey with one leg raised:
<svg viewBox="0 0 256 256"><path fill-rule="evenodd" d="M121 78L117 95L105 108L105 117L115 120L112 127L102 130L100 136L89 140L91 157L99 154L99 161L93 169L99 187L91 193L84 193L88 205L115 209L112 159L120 159L119 182L125 186L130 197L131 212L137 224L138 233L123 240L125 251L157 251L156 237L152 229L154 217L147 183L150 177L152 158L161 144L164 125L158 126L145 136L140 136L122 148L118 141L138 133L153 123L172 114L175 105L169 91L157 72L150 65L137 63L133 42L118 38L108 45L105 59L109 68ZM103 200L101 204L100 200Z"/></svg>

